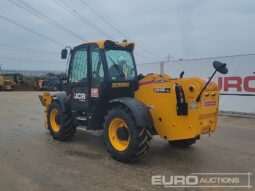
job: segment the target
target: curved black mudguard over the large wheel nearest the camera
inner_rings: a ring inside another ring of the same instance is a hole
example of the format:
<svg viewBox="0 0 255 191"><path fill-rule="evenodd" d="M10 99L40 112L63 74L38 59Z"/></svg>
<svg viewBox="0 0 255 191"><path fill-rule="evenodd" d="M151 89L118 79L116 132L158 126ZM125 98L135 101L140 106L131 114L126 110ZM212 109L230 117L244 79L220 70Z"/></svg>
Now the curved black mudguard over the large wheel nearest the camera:
<svg viewBox="0 0 255 191"><path fill-rule="evenodd" d="M131 98L131 97L122 97L116 98L109 101L112 104L123 104L130 109L132 114L135 117L137 126L146 126L153 128L153 120L149 109L142 102Z"/></svg>

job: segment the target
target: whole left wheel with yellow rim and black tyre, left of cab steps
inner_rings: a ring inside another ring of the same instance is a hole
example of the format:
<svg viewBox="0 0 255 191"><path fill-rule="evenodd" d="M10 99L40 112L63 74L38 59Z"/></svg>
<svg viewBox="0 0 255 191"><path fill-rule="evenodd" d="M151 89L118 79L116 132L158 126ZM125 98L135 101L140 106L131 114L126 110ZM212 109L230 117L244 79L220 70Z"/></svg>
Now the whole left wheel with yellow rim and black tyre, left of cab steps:
<svg viewBox="0 0 255 191"><path fill-rule="evenodd" d="M75 133L75 126L70 112L62 112L58 102L53 102L48 109L48 127L56 140L69 140Z"/></svg>

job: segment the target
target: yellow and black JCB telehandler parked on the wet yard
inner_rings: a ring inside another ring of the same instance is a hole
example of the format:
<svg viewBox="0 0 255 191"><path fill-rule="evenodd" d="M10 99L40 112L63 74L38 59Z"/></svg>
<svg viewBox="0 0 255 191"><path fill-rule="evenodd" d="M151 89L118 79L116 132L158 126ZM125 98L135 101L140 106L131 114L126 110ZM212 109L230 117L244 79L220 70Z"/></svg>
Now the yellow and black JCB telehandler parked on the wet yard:
<svg viewBox="0 0 255 191"><path fill-rule="evenodd" d="M133 50L132 42L109 40L70 48L65 91L39 96L54 139L68 140L79 125L103 129L112 157L133 162L146 153L152 135L188 147L215 131L219 88L211 79L217 71L227 73L226 64L215 61L208 80L143 76ZM61 58L67 56L65 48Z"/></svg>

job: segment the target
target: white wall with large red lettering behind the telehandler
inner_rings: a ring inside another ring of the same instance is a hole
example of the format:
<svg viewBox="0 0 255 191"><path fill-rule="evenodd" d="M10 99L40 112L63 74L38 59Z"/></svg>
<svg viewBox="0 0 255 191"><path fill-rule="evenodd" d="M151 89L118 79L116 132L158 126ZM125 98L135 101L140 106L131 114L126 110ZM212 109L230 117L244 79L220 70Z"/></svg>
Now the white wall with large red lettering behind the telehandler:
<svg viewBox="0 0 255 191"><path fill-rule="evenodd" d="M221 87L220 110L255 113L255 54L205 59L170 61L164 63L164 71L171 77L209 77L214 71L213 61L227 63L227 75L213 78ZM160 64L138 65L138 72L159 73Z"/></svg>

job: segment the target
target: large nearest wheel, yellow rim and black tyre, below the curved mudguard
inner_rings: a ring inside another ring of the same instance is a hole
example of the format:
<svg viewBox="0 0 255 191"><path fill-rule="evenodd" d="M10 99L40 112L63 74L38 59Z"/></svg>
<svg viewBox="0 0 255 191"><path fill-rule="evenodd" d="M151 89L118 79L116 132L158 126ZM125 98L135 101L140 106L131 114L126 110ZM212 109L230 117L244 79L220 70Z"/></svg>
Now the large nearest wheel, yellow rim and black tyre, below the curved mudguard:
<svg viewBox="0 0 255 191"><path fill-rule="evenodd" d="M104 139L112 157L121 162L134 162L149 149L151 135L146 127L138 127L127 108L109 111L104 123Z"/></svg>

